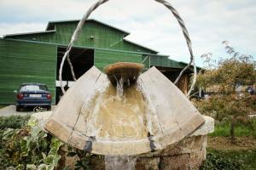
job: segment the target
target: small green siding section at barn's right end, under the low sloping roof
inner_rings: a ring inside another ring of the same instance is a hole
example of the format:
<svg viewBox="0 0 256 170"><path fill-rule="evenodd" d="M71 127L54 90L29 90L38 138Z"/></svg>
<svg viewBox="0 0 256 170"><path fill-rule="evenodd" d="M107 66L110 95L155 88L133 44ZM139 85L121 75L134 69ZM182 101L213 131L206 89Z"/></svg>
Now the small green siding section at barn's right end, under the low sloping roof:
<svg viewBox="0 0 256 170"><path fill-rule="evenodd" d="M150 65L163 66L171 68L183 68L179 62L169 59L168 56L150 55Z"/></svg>

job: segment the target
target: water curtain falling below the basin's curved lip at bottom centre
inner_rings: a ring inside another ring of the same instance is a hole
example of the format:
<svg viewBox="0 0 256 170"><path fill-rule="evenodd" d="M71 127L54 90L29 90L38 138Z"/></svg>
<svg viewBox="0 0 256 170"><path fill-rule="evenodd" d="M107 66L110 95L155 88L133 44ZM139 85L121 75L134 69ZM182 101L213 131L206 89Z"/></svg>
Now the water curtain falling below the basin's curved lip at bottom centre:
<svg viewBox="0 0 256 170"><path fill-rule="evenodd" d="M137 157L135 156L105 156L106 170L134 170Z"/></svg>

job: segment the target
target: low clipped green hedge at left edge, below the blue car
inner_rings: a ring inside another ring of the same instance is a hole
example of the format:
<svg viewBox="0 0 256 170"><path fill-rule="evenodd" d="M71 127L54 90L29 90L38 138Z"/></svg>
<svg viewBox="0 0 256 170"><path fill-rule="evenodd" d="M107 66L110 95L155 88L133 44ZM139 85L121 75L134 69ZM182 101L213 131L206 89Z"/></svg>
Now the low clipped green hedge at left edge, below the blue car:
<svg viewBox="0 0 256 170"><path fill-rule="evenodd" d="M0 116L0 129L23 127L29 118L30 116Z"/></svg>

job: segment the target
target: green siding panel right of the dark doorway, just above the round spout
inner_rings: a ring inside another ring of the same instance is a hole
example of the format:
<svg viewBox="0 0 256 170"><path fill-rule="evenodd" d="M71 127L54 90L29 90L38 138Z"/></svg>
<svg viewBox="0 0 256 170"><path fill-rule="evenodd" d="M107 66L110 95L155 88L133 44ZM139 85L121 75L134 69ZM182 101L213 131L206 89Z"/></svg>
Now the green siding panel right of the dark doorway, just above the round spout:
<svg viewBox="0 0 256 170"><path fill-rule="evenodd" d="M98 69L103 71L103 68L107 65L111 65L116 62L142 62L141 54L131 54L122 52L113 52L106 50L95 51L95 65Z"/></svg>

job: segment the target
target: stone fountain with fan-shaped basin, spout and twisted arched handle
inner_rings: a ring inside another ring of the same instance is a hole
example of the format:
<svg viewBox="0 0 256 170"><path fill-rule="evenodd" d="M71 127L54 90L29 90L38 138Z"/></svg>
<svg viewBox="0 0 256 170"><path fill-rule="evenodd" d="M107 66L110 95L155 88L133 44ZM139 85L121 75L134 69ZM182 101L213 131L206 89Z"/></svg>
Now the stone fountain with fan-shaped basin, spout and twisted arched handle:
<svg viewBox="0 0 256 170"><path fill-rule="evenodd" d="M189 31L172 4L155 1L170 9L182 28L189 48L189 65L194 66L190 94L197 71ZM61 60L60 81L65 59L76 81L69 52L90 14L107 2L98 0L79 21ZM102 167L107 170L199 167L206 158L207 133L213 131L214 121L201 116L155 67L140 74L142 68L140 64L118 63L108 66L104 74L93 66L67 90L44 128L74 148L105 156ZM61 90L65 92L63 87Z"/></svg>

